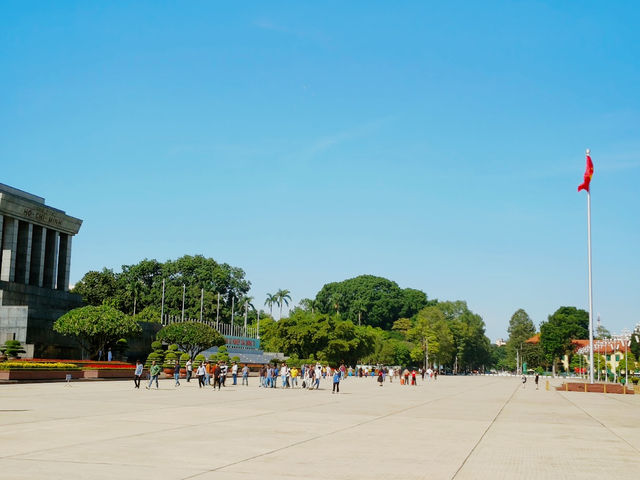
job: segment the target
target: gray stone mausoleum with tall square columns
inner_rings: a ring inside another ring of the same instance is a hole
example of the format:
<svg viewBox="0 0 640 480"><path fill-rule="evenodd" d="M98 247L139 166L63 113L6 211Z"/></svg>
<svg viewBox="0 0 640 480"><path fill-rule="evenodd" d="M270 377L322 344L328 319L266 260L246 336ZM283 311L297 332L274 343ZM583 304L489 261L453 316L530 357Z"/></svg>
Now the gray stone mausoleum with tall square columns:
<svg viewBox="0 0 640 480"><path fill-rule="evenodd" d="M0 183L0 343L20 340L25 357L77 356L75 342L52 325L82 305L69 293L71 239L81 225L44 198Z"/></svg>

